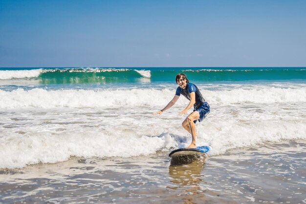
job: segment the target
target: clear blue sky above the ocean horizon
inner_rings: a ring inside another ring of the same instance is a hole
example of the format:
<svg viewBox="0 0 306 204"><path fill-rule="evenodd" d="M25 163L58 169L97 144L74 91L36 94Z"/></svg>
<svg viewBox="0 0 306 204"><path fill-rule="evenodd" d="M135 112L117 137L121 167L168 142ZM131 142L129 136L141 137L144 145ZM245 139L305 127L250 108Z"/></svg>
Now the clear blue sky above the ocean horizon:
<svg viewBox="0 0 306 204"><path fill-rule="evenodd" d="M305 67L306 0L0 0L0 67Z"/></svg>

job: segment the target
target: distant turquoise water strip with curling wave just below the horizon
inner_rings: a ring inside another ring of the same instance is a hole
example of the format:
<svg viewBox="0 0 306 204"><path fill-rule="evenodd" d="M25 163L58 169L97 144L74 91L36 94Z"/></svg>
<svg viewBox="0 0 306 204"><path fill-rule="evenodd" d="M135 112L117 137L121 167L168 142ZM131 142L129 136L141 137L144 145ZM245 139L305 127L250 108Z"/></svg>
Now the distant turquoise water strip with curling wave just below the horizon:
<svg viewBox="0 0 306 204"><path fill-rule="evenodd" d="M0 68L0 79L24 78L39 84L131 84L174 82L179 72L191 81L208 83L306 80L306 68Z"/></svg>

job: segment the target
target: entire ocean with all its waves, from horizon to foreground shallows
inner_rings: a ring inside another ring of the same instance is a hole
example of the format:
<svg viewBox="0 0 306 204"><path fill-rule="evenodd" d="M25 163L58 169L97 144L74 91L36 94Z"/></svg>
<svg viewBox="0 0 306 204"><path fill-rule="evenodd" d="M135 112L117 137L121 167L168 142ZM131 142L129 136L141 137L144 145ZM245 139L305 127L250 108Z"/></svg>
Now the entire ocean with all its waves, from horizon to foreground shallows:
<svg viewBox="0 0 306 204"><path fill-rule="evenodd" d="M172 165L180 72L212 150ZM305 159L306 68L0 68L0 204L303 204Z"/></svg>

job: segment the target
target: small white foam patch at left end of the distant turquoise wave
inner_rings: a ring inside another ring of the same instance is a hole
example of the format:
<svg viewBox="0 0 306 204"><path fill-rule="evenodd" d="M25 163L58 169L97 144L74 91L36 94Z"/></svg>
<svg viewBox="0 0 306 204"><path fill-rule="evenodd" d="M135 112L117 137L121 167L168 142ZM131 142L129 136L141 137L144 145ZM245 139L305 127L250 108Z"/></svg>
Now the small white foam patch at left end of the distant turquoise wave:
<svg viewBox="0 0 306 204"><path fill-rule="evenodd" d="M43 69L31 70L0 70L0 79L21 79L38 77L43 72Z"/></svg>

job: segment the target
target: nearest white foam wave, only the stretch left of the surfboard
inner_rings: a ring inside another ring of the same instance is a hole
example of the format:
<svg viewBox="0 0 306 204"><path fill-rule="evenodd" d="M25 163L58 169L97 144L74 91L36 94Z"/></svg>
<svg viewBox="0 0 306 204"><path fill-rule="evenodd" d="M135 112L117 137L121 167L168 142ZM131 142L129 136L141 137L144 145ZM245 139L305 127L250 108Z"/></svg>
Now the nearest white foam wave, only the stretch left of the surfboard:
<svg viewBox="0 0 306 204"><path fill-rule="evenodd" d="M166 136L167 137L167 136ZM55 163L76 157L133 157L149 155L173 146L166 137L107 136L89 131L54 135L18 134L0 138L0 168L22 168L26 164ZM168 137L169 134L168 134Z"/></svg>

